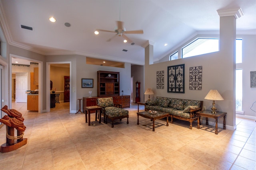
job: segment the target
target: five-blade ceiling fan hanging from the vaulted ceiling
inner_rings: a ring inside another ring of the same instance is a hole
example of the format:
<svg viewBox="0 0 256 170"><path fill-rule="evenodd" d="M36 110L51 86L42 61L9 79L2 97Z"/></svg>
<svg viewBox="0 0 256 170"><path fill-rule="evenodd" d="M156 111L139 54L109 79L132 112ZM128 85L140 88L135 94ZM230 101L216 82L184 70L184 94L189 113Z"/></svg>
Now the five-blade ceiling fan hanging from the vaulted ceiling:
<svg viewBox="0 0 256 170"><path fill-rule="evenodd" d="M134 31L126 31L124 28L124 22L122 21L116 21L117 28L114 31L108 31L104 29L97 29L96 31L105 31L105 32L111 32L111 33L116 33L114 37L119 36L119 37L124 37L124 42L131 43L132 40L129 39L125 34L143 34L143 30L134 30ZM111 41L114 37L108 39L107 41Z"/></svg>

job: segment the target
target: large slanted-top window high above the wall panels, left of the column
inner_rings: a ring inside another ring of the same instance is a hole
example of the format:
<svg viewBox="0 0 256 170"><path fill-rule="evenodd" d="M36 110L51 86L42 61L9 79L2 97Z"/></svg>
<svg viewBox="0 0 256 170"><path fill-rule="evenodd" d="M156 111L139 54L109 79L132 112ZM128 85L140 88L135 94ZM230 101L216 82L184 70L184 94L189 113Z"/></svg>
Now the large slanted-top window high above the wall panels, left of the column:
<svg viewBox="0 0 256 170"><path fill-rule="evenodd" d="M219 51L219 39L198 38L182 48L182 58Z"/></svg>

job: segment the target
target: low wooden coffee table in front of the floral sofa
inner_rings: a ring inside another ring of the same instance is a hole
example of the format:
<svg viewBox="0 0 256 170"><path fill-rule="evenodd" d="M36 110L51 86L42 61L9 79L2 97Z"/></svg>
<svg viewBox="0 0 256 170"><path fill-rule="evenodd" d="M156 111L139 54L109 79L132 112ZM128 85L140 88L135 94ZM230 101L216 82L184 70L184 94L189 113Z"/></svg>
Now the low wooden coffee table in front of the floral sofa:
<svg viewBox="0 0 256 170"><path fill-rule="evenodd" d="M169 113L162 113L160 111L152 111L152 112L151 111L142 111L142 112L138 112L137 116L138 116L137 125L140 124L139 116L145 117L145 118L153 121L153 131L155 131L155 120L156 119L162 119L162 118L166 117L166 126L169 126L169 124L168 124Z"/></svg>

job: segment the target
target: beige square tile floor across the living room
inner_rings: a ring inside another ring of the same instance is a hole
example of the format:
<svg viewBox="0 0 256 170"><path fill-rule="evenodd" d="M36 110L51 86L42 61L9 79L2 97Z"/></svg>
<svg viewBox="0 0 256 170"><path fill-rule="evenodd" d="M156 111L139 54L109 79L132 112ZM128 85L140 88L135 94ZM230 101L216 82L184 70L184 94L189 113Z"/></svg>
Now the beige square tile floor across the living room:
<svg viewBox="0 0 256 170"><path fill-rule="evenodd" d="M110 124L85 123L84 114L70 114L69 103L56 104L49 113L26 110L26 103L12 108L24 116L28 143L12 152L0 153L1 170L255 170L256 122L237 118L236 131L202 125L188 128L186 121L174 124L140 117L137 105L126 119ZM144 106L140 106L143 111ZM94 114L91 115L94 120ZM102 118L103 119L103 118ZM94 122L92 122L94 123ZM0 128L0 145L6 141Z"/></svg>

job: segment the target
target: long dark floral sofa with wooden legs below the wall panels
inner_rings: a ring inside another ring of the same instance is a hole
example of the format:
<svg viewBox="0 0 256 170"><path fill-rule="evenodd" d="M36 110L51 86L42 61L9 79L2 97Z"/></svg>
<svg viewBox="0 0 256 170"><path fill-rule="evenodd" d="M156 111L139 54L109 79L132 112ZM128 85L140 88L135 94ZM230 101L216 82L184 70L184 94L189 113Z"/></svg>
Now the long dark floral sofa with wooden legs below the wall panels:
<svg viewBox="0 0 256 170"><path fill-rule="evenodd" d="M189 121L192 129L192 122L197 120L197 111L201 111L203 101L166 98L157 96L156 100L146 102L145 110L155 110L164 113L170 113L171 123L173 118Z"/></svg>

